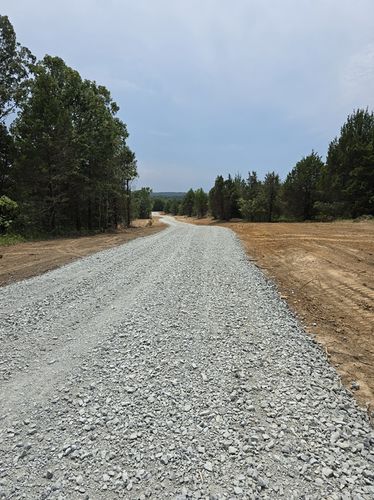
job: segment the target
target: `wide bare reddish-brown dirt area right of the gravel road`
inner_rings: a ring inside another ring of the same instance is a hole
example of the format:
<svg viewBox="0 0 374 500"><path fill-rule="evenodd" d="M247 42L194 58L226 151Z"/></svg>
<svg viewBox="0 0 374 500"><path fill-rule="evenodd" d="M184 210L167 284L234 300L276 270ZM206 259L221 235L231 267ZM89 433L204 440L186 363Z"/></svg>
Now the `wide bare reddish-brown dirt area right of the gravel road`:
<svg viewBox="0 0 374 500"><path fill-rule="evenodd" d="M217 224L211 219L189 219ZM324 345L355 396L374 411L374 223L220 223L273 278L305 329Z"/></svg>

